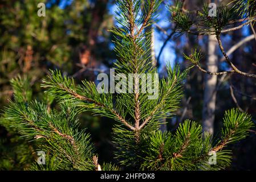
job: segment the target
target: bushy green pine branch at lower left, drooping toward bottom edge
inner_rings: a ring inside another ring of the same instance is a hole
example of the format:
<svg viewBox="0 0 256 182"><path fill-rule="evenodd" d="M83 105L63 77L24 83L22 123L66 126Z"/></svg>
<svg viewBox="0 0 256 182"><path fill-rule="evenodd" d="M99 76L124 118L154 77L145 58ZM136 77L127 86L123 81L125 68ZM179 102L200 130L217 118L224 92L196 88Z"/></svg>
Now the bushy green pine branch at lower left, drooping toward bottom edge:
<svg viewBox="0 0 256 182"><path fill-rule="evenodd" d="M11 102L5 110L5 118L27 140L40 140L42 150L62 160L61 168L91 169L94 148L89 135L76 130L78 123L68 117L67 112L49 113L46 105L36 101L30 104Z"/></svg>

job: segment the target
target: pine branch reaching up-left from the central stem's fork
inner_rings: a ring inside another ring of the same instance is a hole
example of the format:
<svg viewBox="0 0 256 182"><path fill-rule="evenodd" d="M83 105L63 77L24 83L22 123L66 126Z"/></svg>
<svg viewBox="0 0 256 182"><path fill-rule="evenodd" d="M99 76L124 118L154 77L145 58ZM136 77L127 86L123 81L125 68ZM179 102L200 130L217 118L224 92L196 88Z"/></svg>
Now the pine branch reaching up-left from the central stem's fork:
<svg viewBox="0 0 256 182"><path fill-rule="evenodd" d="M82 107L93 107L96 114L106 114L107 117L115 118L117 121L122 122L131 130L135 130L115 109L112 107L112 97L109 97L108 100L101 99L100 94L97 92L95 84L91 82L84 81L84 87L78 86L76 88L74 80L72 78L62 77L60 72L52 71L52 77L48 76L48 80L43 80L42 87L47 88L46 93L50 93L58 97L60 100L77 100L79 102L74 102L75 105ZM83 96L86 94L87 96ZM99 97L98 100L95 100L93 97ZM102 97L104 95L102 94ZM82 101L82 103L81 103ZM105 103L104 103L105 102ZM89 105L88 105L89 104ZM92 104L92 105L90 105ZM104 113L101 113L104 111Z"/></svg>

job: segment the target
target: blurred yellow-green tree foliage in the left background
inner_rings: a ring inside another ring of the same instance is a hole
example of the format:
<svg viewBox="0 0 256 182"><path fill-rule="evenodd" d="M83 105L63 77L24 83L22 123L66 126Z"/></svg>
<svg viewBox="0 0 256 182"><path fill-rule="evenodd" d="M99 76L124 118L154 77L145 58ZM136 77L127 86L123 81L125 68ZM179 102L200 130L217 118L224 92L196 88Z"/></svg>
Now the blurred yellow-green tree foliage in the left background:
<svg viewBox="0 0 256 182"><path fill-rule="evenodd" d="M46 5L46 16L38 16L38 4ZM7 100L13 96L12 78L26 75L21 83L33 93L27 101L36 98L47 105L54 105L52 98L43 95L40 80L48 69L58 68L78 78L81 74L76 63L87 60L91 65L112 60L108 44L112 17L106 11L108 1L49 1L17 0L0 1L0 113ZM97 21L95 21L95 16ZM93 24L91 23L93 22ZM101 32L100 42L97 41ZM106 33L107 32L107 33ZM94 45L89 45L93 42ZM80 56L87 46L90 55ZM96 49L101 51L95 51ZM95 59L88 59L95 57ZM88 63L88 64L89 64ZM88 65L90 67L90 65ZM78 74L80 73L80 74ZM91 72L90 72L91 73ZM76 75L76 76L75 76ZM92 76L92 74L90 74ZM0 126L0 170L29 168L36 158L34 148L9 127L6 121Z"/></svg>

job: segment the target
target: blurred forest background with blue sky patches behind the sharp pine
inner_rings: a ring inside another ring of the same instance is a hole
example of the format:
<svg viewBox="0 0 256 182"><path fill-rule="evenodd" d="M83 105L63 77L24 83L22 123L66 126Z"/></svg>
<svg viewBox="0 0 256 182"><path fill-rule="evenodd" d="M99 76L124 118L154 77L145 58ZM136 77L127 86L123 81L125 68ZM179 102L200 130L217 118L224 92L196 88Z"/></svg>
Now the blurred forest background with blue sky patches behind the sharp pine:
<svg viewBox="0 0 256 182"><path fill-rule="evenodd" d="M185 8L197 11L204 0L185 1ZM222 1L228 3L230 1ZM46 16L38 16L38 3L46 5ZM152 24L153 62L160 76L166 76L166 63L189 67L183 53L201 49L202 67L217 72L229 69L218 44L208 36L174 34L175 24L169 22L166 6L174 1L163 1L158 10L158 21ZM220 3L220 1L216 1ZM118 26L115 21L115 1L108 0L1 0L0 1L0 114L13 99L10 79L26 76L32 88L32 98L55 107L54 98L47 97L40 88L48 69L59 69L63 74L96 80L97 74L108 72L115 62L112 34L108 30ZM235 26L235 24L234 24ZM256 38L251 38L254 27L245 26L222 34L222 42L237 68L256 73ZM248 37L250 36L250 39ZM242 40L245 40L241 42ZM238 45L238 43L241 43ZM175 117L168 119L162 130L173 131L185 119L192 119L209 130L220 133L222 117L227 109L239 107L256 117L256 80L237 74L209 76L193 68L184 82L184 97ZM100 162L113 161L111 128L114 121L79 115L81 126L86 127L94 140ZM255 122L255 120L254 120ZM22 170L35 160L33 143L28 143L5 121L0 126L0 169ZM233 162L229 170L256 169L256 134L230 148Z"/></svg>

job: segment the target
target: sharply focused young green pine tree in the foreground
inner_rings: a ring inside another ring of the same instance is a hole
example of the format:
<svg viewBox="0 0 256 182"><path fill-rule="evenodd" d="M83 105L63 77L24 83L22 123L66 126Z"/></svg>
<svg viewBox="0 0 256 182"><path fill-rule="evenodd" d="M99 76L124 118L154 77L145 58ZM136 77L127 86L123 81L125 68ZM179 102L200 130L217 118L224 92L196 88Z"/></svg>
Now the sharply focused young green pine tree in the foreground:
<svg viewBox="0 0 256 182"><path fill-rule="evenodd" d="M178 66L168 66L168 77L159 79L148 50L151 31L144 30L156 19L161 1L141 2L117 0L120 27L111 30L115 34L115 71L122 74L122 79L133 73L134 78L128 83L133 85L131 93L100 93L94 82L84 80L77 85L73 78L51 71L42 88L59 101L59 107L48 109L38 101L27 101L22 94L22 81L13 81L15 101L6 107L4 118L22 137L34 140L39 151L47 153L46 165L35 163L31 169L218 170L230 165L231 151L227 145L248 135L253 127L249 114L238 109L226 111L219 138L202 133L202 127L189 120L181 123L174 133L159 130L160 119L171 117L178 108L188 70L181 73ZM200 56L195 51L187 58L197 63ZM139 77L143 73L151 75L152 84L158 86L156 99L149 99L152 93L139 92L148 82L147 77ZM101 89L107 90L107 85ZM100 156L95 152L90 134L78 128L78 114L85 111L116 120L112 135L118 164L97 162ZM213 164L210 161L214 156L217 163Z"/></svg>

